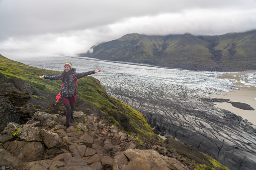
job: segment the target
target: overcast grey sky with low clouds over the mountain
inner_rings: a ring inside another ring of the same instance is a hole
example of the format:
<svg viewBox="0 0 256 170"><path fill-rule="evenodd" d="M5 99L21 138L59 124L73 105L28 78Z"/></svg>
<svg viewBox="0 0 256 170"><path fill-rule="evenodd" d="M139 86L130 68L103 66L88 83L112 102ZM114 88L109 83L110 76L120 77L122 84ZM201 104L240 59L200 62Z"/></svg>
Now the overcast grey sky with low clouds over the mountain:
<svg viewBox="0 0 256 170"><path fill-rule="evenodd" d="M75 56L130 33L223 35L256 29L256 0L0 0L0 54Z"/></svg>

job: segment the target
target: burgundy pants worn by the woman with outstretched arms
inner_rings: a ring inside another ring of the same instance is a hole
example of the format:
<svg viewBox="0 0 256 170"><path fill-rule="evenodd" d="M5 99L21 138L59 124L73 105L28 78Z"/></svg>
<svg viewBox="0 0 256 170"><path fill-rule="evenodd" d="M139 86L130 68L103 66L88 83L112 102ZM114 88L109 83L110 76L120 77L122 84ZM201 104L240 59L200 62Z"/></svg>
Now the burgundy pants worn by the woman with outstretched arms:
<svg viewBox="0 0 256 170"><path fill-rule="evenodd" d="M70 126L70 123L74 122L74 105L75 105L75 97L62 97L62 102L66 108L66 127Z"/></svg>

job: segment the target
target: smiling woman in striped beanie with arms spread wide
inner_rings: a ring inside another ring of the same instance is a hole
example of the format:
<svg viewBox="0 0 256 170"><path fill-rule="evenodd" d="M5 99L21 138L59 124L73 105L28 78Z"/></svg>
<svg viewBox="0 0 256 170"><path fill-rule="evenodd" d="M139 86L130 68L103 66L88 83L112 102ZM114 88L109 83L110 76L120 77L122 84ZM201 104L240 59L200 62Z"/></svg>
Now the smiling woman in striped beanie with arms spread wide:
<svg viewBox="0 0 256 170"><path fill-rule="evenodd" d="M101 70L97 69L94 71L88 71L84 73L75 73L75 68L72 68L72 65L70 63L66 63L64 65L64 71L62 74L55 75L55 76L45 76L45 75L39 76L40 78L62 81L60 96L66 108L66 124L65 124L66 128L68 128L70 126L70 123L74 121L73 111L74 111L74 105L75 105L75 97L77 94L77 90L76 90L77 79L88 76L90 74L100 72L100 71Z"/></svg>

